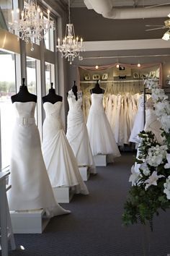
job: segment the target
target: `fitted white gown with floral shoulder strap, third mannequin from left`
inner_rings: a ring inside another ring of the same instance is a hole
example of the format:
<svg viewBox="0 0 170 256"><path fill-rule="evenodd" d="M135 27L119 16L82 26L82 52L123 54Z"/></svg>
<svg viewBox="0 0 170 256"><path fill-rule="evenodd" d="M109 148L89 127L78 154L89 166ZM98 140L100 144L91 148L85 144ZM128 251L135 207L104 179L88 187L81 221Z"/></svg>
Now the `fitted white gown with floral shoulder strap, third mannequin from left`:
<svg viewBox="0 0 170 256"><path fill-rule="evenodd" d="M96 173L94 158L91 153L89 135L84 122L84 114L81 109L82 93L78 94L78 100L72 90L68 91L69 111L67 116L66 137L73 150L78 166L89 166L91 173Z"/></svg>

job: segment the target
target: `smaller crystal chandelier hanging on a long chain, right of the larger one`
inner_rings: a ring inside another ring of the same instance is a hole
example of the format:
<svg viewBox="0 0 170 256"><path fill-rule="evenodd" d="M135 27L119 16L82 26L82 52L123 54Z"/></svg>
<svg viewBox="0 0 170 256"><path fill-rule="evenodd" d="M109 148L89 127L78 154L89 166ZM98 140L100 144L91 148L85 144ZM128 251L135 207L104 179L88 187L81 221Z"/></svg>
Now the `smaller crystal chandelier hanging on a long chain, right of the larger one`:
<svg viewBox="0 0 170 256"><path fill-rule="evenodd" d="M83 57L80 56L80 52L84 51L82 49L83 39L79 41L78 36L75 36L73 24L71 24L71 14L70 14L70 0L68 0L68 18L69 23L66 24L66 34L63 38L63 43L61 44L60 38L58 38L58 51L61 52L62 58L65 57L72 64L73 60L79 56L79 60L82 60Z"/></svg>

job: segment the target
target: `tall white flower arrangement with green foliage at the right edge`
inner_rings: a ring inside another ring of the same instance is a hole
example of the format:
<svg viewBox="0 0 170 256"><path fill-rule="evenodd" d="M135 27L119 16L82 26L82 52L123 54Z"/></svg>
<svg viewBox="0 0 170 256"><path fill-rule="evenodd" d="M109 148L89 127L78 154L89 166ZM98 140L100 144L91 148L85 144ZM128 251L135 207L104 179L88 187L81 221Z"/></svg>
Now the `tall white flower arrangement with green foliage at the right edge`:
<svg viewBox="0 0 170 256"><path fill-rule="evenodd" d="M135 165L139 167L131 168L132 187L122 221L125 226L149 222L153 230L153 216L158 215L158 210L170 207L170 103L164 90L158 87L158 79L148 79L145 83L151 90L153 108L161 122L162 142L158 143L151 131L138 135L140 144Z"/></svg>

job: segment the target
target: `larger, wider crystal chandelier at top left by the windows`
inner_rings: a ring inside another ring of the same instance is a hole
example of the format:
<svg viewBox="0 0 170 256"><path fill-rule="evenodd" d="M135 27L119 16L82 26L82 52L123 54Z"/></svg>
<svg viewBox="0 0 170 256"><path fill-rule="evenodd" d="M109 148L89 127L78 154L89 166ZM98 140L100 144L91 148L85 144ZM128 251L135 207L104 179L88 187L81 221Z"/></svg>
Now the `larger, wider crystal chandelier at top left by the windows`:
<svg viewBox="0 0 170 256"><path fill-rule="evenodd" d="M14 15L12 10L12 22L9 22L9 28L15 30L19 34L18 37L26 43L30 42L31 51L34 51L35 40L42 40L50 28L54 29L54 23L50 20L50 10L48 10L48 18L44 19L36 0L24 0L24 9L21 13L17 9L17 15Z"/></svg>

